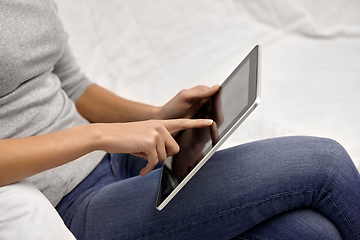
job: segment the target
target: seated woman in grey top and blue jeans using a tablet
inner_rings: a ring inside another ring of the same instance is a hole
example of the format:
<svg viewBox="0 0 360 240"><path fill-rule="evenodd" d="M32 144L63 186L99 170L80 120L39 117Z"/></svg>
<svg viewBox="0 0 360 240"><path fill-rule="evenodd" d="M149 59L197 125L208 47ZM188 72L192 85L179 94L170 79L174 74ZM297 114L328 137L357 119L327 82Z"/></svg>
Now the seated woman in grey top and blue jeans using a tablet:
<svg viewBox="0 0 360 240"><path fill-rule="evenodd" d="M0 25L0 184L30 177L78 239L359 239L359 173L321 138L219 151L157 211L152 169L219 87L128 101L80 72L50 0L3 0Z"/></svg>

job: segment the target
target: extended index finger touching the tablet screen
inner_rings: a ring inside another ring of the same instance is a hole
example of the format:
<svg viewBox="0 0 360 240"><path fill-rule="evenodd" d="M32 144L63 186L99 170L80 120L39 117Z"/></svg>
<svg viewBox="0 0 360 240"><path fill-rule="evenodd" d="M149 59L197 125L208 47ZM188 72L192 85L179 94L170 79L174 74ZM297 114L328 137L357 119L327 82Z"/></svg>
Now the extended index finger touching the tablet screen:
<svg viewBox="0 0 360 240"><path fill-rule="evenodd" d="M169 133L178 132L188 128L203 128L211 126L214 122L211 119L171 119L163 120L164 126L169 131Z"/></svg>

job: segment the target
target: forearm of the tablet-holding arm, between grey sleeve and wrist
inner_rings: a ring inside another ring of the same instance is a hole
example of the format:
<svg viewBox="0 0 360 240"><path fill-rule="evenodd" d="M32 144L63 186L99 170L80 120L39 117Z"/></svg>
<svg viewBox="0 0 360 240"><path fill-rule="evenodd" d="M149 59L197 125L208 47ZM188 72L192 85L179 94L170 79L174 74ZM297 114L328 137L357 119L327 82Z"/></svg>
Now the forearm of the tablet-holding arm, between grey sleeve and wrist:
<svg viewBox="0 0 360 240"><path fill-rule="evenodd" d="M90 122L134 122L155 119L159 107L130 101L91 85L76 102L79 113Z"/></svg>

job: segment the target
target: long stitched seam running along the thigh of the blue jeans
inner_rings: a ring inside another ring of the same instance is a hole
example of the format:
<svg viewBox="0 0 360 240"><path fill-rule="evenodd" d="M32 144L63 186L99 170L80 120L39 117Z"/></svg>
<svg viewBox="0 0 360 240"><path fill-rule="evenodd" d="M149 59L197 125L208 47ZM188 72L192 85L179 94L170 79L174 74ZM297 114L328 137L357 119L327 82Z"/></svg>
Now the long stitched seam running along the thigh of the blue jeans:
<svg viewBox="0 0 360 240"><path fill-rule="evenodd" d="M218 213L217 215L214 215L214 216L211 216L209 218L206 218L206 219L203 219L203 220L199 220L199 221L195 221L195 222L191 222L191 223L187 223L187 224L183 224L182 226L180 227L177 227L177 228L174 228L174 229L171 229L171 230L168 230L166 232L163 232L163 233L157 233L157 234L154 234L152 236L147 236L147 237L144 237L142 239L151 239L151 238L154 238L154 237L160 237L161 235L165 235L165 234L168 234L168 233L171 233L171 232L174 232L174 231L177 231L177 230L181 230L183 228L186 228L186 227L189 227L189 226L192 226L192 225L196 225L196 224L199 224L199 223L203 223L203 222L206 222L206 221L210 221L214 218L218 218L218 217L221 217L221 216L224 216L224 215L227 215L227 214L230 214L230 213L233 213L235 211L238 211L238 210L241 210L241 209L244 209L246 207L250 207L250 206L253 206L253 205L257 205L257 204L260 204L260 203L263 203L263 202L266 202L266 201L269 201L269 200L272 200L272 199L276 199L276 198L280 198L280 197L284 197L284 196L287 196L287 195L291 195L291 194L298 194L298 193L304 193L304 192L313 192L315 190L298 190L298 191L294 191L294 192L286 192L286 193L279 193L279 194L276 194L276 195L273 195L271 197L267 197L267 198L264 198L263 200L261 201L257 201L257 202L252 202L252 203L248 203L246 205L242 205L242 206L239 206L239 207L233 207L229 210L226 210L226 211L223 211L221 213ZM239 233L241 234L241 233Z"/></svg>

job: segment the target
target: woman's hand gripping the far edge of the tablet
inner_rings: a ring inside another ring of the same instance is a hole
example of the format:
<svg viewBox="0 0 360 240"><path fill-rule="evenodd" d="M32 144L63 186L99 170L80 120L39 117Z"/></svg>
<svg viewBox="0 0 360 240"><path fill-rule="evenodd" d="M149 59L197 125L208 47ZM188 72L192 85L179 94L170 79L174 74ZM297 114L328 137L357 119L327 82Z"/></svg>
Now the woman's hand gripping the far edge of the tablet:
<svg viewBox="0 0 360 240"><path fill-rule="evenodd" d="M219 90L219 85L213 87L196 86L181 90L174 98L162 106L157 119L192 118L208 98Z"/></svg>

